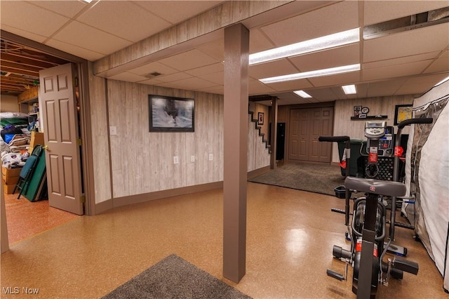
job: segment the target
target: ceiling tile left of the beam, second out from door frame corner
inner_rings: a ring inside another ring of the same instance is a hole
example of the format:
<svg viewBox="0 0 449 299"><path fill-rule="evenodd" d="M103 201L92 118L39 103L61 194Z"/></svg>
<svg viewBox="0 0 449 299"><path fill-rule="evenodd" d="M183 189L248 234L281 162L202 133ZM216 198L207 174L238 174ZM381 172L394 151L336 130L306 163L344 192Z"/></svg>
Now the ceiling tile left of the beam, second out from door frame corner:
<svg viewBox="0 0 449 299"><path fill-rule="evenodd" d="M80 22L71 22L54 39L105 55L130 46L130 42Z"/></svg>

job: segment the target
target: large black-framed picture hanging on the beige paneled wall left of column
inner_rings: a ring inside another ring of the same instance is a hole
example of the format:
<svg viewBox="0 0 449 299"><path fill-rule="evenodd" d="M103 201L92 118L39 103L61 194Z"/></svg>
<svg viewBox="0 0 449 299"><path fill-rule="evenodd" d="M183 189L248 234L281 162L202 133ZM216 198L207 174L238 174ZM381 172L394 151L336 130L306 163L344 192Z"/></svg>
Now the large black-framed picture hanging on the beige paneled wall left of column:
<svg viewBox="0 0 449 299"><path fill-rule="evenodd" d="M194 132L195 100L148 95L150 132Z"/></svg>

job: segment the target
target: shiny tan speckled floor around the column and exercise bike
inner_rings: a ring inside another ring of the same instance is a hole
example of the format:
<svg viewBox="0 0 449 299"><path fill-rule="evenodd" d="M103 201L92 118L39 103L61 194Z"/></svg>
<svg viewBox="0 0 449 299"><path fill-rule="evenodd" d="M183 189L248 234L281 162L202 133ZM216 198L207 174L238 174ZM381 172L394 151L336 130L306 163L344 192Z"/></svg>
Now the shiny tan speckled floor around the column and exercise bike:
<svg viewBox="0 0 449 299"><path fill-rule="evenodd" d="M222 277L222 190L149 201L82 216L20 241L1 255L1 288L38 288L32 298L100 298L171 253L253 298L356 298L332 258L344 240L344 201L282 187L248 183L246 275ZM448 298L443 278L413 232L396 231L417 276L380 287L377 298ZM349 271L351 277L351 270ZM30 298L4 295L2 298Z"/></svg>

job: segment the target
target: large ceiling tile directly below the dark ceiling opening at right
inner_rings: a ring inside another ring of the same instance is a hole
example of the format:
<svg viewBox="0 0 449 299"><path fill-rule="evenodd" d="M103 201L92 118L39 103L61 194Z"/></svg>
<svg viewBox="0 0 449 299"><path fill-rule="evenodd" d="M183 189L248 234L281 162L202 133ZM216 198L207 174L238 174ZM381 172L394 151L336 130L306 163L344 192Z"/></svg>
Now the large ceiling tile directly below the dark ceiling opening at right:
<svg viewBox="0 0 449 299"><path fill-rule="evenodd" d="M442 51L449 45L448 23L363 41L363 62Z"/></svg>

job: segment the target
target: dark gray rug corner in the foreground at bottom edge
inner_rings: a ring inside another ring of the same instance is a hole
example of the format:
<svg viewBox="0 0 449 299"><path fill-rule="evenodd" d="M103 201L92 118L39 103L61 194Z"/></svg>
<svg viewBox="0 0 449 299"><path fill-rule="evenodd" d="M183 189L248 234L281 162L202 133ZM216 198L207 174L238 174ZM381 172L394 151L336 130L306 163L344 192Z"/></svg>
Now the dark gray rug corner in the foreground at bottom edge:
<svg viewBox="0 0 449 299"><path fill-rule="evenodd" d="M251 297L172 254L103 298L250 299Z"/></svg>

